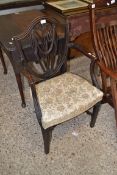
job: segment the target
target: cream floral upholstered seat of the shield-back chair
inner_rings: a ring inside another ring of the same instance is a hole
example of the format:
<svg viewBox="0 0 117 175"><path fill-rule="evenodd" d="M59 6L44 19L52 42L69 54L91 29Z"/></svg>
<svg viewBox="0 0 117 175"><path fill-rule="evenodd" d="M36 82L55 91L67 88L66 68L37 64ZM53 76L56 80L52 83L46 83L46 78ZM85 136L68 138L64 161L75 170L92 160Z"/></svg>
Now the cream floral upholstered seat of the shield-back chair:
<svg viewBox="0 0 117 175"><path fill-rule="evenodd" d="M47 129L87 111L102 99L103 93L84 78L65 73L36 85Z"/></svg>

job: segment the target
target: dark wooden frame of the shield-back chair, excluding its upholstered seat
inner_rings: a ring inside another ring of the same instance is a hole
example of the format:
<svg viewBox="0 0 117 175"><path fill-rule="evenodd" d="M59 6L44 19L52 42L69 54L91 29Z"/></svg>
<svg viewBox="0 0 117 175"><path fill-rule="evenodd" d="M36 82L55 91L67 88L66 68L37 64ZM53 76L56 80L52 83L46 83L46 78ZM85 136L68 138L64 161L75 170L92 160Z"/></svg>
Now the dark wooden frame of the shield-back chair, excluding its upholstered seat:
<svg viewBox="0 0 117 175"><path fill-rule="evenodd" d="M43 25L44 23L46 23L47 28L46 25ZM73 46L73 43L69 43L68 24L61 24L63 26L62 32L60 32L61 28L60 30L56 28L56 25L58 24L57 21L54 19L49 19L47 17L36 18L24 33L14 37L14 44L16 46L17 56L19 57L22 65L21 73L28 79L29 85L32 90L35 112L42 130L45 148L44 150L46 154L49 153L52 130L55 126L49 127L47 129L44 129L42 126L42 112L39 99L37 97L35 85L39 82L51 79L66 71L68 49ZM39 32L36 31L36 28L43 29L41 35ZM42 35L44 37L42 37ZM33 48L33 52L35 53L35 57L27 57L22 47L22 41L26 38L30 40L31 47ZM39 38L39 40L37 38ZM55 57L56 53L58 57ZM56 60L55 58L58 60ZM32 70L29 65L30 62L39 63L41 65L41 70L43 71L43 73L37 73L36 71ZM100 105L100 102L94 105L93 113L91 114L91 127L95 125Z"/></svg>

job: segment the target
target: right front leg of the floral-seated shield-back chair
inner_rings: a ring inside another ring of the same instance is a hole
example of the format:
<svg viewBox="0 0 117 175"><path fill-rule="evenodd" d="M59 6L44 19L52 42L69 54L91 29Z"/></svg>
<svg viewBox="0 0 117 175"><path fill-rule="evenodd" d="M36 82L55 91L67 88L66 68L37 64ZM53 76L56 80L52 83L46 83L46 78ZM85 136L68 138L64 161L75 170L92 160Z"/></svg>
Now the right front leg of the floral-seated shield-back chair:
<svg viewBox="0 0 117 175"><path fill-rule="evenodd" d="M95 126L95 122L97 119L98 112L101 107L101 102L98 102L94 107L93 107L93 113L91 115L91 122L90 122L90 127L93 128Z"/></svg>

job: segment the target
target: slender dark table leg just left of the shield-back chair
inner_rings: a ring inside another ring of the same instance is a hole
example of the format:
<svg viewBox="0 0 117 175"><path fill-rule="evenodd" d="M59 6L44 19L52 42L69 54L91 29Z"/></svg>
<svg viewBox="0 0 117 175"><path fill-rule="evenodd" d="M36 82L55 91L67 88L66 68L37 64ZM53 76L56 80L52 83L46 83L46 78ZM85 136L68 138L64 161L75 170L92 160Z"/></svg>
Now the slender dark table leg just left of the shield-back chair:
<svg viewBox="0 0 117 175"><path fill-rule="evenodd" d="M17 84L18 84L18 88L19 88L19 92L20 92L20 96L22 100L22 107L25 108L26 103L25 103L25 97L24 97L24 92L23 92L23 87L22 87L21 75L20 73L18 73L18 74L15 74L15 76L16 76L16 80L17 80Z"/></svg>

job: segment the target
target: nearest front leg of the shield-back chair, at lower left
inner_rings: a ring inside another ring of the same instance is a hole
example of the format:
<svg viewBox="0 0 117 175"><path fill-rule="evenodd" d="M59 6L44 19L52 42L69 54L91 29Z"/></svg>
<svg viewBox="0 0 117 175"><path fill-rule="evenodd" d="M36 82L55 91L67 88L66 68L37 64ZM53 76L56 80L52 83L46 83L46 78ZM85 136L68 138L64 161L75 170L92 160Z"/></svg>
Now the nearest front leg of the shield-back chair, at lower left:
<svg viewBox="0 0 117 175"><path fill-rule="evenodd" d="M41 124L40 126L41 126L42 135L43 135L43 141L44 141L44 152L45 154L48 154L50 150L50 142L52 138L53 127L44 129Z"/></svg>

